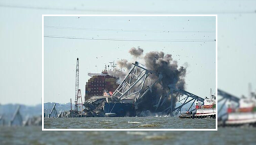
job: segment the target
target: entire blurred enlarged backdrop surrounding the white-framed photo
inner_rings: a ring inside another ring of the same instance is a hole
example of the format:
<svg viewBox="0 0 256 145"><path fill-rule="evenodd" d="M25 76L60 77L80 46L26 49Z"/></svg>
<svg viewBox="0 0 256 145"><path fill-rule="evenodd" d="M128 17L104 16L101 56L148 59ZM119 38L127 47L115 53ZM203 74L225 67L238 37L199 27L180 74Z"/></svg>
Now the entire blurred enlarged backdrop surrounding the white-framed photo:
<svg viewBox="0 0 256 145"><path fill-rule="evenodd" d="M250 0L1 1L0 124L3 127L0 132L0 142L2 144L60 142L72 144L74 141L76 144L84 142L252 144L256 140L253 137L255 128L252 127L255 125L253 122L255 107L254 103L248 102L254 101L253 92L256 89L255 6L256 1ZM221 99L218 104L221 109L221 116L218 116L220 125L218 132L42 132L40 121L42 121L43 14L217 14L218 88L220 89L218 93L221 94L218 96ZM25 124L29 127L6 127L10 124L19 126L20 120L26 121ZM244 120L250 122L246 123ZM244 127L243 124L247 126Z"/></svg>

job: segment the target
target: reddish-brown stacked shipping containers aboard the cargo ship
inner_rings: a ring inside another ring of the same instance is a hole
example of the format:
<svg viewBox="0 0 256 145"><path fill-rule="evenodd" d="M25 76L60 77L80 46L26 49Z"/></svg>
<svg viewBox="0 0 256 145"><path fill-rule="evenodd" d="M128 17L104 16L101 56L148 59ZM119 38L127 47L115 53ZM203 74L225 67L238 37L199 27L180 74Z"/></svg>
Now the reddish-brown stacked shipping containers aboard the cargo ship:
<svg viewBox="0 0 256 145"><path fill-rule="evenodd" d="M85 99L89 99L95 95L103 95L104 90L108 92L115 92L118 84L116 84L116 78L106 75L106 76L93 76L86 82L85 86Z"/></svg>

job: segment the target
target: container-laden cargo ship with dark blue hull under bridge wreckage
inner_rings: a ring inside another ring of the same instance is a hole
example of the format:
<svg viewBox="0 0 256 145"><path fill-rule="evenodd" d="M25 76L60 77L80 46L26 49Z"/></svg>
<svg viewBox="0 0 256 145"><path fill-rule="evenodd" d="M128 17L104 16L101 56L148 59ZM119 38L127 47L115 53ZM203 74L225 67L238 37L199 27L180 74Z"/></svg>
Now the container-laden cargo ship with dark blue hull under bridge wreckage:
<svg viewBox="0 0 256 145"><path fill-rule="evenodd" d="M124 99L121 102L111 101L111 96L113 95L113 92L115 92L116 88L118 88L119 84L116 83L115 77L108 75L106 67L101 73L89 72L88 76L91 76L92 78L88 79L85 86L85 116L136 116L133 100Z"/></svg>

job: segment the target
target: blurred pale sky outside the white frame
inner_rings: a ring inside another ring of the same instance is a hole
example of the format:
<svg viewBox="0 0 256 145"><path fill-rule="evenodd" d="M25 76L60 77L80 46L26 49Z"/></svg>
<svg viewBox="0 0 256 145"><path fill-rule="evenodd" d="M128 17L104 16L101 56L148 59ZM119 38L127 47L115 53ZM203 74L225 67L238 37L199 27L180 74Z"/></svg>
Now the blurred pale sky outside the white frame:
<svg viewBox="0 0 256 145"><path fill-rule="evenodd" d="M255 90L256 1L157 2L1 1L0 103L42 103L42 14L217 14L218 88L238 97L248 83Z"/></svg>

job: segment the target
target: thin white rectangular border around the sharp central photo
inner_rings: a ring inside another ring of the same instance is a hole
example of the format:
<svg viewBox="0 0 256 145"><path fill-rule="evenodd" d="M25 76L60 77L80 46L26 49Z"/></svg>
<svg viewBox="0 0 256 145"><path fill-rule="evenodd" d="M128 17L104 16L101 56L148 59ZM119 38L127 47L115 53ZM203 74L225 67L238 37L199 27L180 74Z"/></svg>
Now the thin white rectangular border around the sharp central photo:
<svg viewBox="0 0 256 145"><path fill-rule="evenodd" d="M216 100L218 100L218 15L42 15L42 131L218 131L216 128L44 128L44 17L215 17L216 18ZM218 116L218 102L216 103Z"/></svg>

